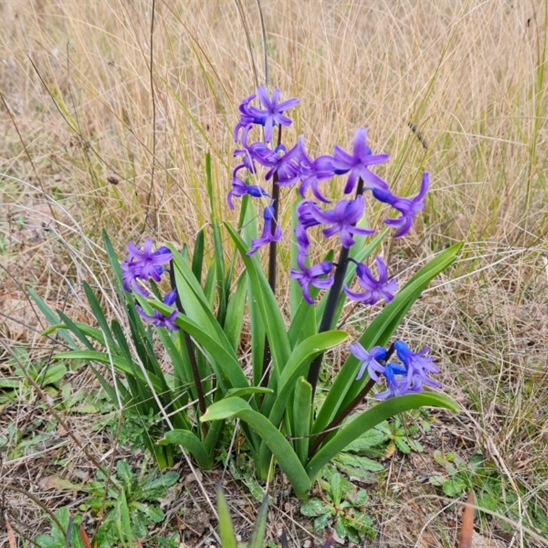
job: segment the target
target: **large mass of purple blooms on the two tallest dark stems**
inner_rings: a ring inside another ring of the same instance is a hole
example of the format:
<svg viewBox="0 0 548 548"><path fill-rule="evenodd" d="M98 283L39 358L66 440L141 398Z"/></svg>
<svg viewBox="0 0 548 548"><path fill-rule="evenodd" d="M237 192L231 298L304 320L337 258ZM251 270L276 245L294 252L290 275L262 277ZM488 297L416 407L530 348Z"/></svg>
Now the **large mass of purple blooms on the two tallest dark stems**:
<svg viewBox="0 0 548 548"><path fill-rule="evenodd" d="M284 112L299 104L299 99L279 102L279 95L280 91L276 88L270 98L266 89L260 86L256 95L246 97L240 104L240 120L234 128L234 140L241 145L241 148L234 151L234 156L240 157L241 162L232 173L232 188L228 192L227 202L229 207L234 209L234 197L250 195L254 198L269 199L268 205L264 208L262 235L251 241L251 250L248 255L253 255L264 245L279 241L283 234L281 227L276 223L272 195L261 186L247 184L245 179L249 179L249 174L257 174L256 164L259 164L268 169L265 175L266 181L273 179L277 186L292 186L299 183L299 193L303 197L303 201L297 207L298 223L295 228L299 269L291 269L290 277L299 282L304 299L312 304L314 301L310 296L310 286L327 289L333 284L333 276L332 267L326 261L314 266L306 265L310 248L308 229L321 225L326 238L338 235L341 245L345 248L355 243L354 236L374 234L373 229L357 226L365 209L362 193L364 190L371 190L375 199L388 203L399 212L397 219L385 219L384 223L396 229L396 237L403 236L411 229L416 213L423 208L429 177L428 173L423 174L421 192L416 197L410 199L393 195L388 183L370 170L371 166L386 162L389 158L388 154L373 154L367 145L367 133L364 127L360 127L354 136L352 153L336 145L333 155L321 155L313 160L306 152L302 135L299 136L297 144L289 150L281 142L278 142L276 146L271 145L273 127L290 125L292 121ZM252 105L253 99L256 98L263 108ZM249 132L254 125L264 126L266 143L248 141ZM248 177L242 176L242 171L247 171ZM323 195L319 184L337 175L347 175L345 195L353 192L360 181L356 197L340 200L332 209L323 210L320 204L329 204L331 201ZM308 190L314 199L306 198ZM375 304L379 299L386 301L393 299L397 282L395 279L388 279L386 263L382 258L377 257L376 262L378 278L373 276L366 264L357 264L358 283L364 288L364 292L354 292L345 286L349 299L367 304Z"/></svg>

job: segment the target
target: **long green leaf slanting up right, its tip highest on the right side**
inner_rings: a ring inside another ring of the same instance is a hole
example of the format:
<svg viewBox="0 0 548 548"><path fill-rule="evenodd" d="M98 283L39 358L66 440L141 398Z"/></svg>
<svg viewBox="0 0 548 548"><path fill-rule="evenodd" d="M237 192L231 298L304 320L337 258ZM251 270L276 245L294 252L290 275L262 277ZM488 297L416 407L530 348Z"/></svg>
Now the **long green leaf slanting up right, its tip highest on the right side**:
<svg viewBox="0 0 548 548"><path fill-rule="evenodd" d="M375 345L386 345L414 301L420 297L429 282L456 259L461 248L462 243L453 245L423 266L399 290L393 301L388 303L369 324L369 327L360 338L360 344L365 349L371 349ZM358 358L350 354L338 373L332 389L329 390L329 395L327 395L312 428L313 433L322 432L336 414L345 409L365 386L368 381L367 375L364 375L361 381L356 381L359 365Z"/></svg>

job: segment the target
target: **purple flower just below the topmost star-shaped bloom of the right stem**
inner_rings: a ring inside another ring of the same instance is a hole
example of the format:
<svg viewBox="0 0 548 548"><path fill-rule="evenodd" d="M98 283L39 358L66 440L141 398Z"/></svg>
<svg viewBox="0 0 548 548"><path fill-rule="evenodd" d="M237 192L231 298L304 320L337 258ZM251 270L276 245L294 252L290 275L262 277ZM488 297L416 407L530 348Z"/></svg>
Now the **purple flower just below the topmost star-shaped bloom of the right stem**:
<svg viewBox="0 0 548 548"><path fill-rule="evenodd" d="M326 238L339 233L343 247L351 247L355 243L352 238L353 235L371 236L371 234L375 234L375 230L355 226L364 214L364 207L364 197L359 195L353 200L339 201L332 210L325 212L314 210L312 215L319 223L332 225L323 229L323 235Z"/></svg>

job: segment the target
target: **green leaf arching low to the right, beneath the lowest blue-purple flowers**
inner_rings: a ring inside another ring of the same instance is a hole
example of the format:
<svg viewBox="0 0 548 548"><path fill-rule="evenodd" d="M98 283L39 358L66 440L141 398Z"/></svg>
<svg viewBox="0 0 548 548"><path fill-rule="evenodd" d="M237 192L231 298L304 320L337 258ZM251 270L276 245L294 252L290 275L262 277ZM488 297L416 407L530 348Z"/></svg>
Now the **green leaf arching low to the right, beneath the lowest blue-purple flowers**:
<svg viewBox="0 0 548 548"><path fill-rule="evenodd" d="M382 403L376 403L371 409L360 414L356 419L338 430L335 436L316 452L306 466L310 480L312 481L323 466L332 460L337 453L343 451L349 443L356 440L356 438L367 432L367 430L375 427L375 425L382 421L386 421L390 416L427 406L446 408L453 412L458 412L459 409L457 403L449 397L431 392L408 394L388 399Z"/></svg>

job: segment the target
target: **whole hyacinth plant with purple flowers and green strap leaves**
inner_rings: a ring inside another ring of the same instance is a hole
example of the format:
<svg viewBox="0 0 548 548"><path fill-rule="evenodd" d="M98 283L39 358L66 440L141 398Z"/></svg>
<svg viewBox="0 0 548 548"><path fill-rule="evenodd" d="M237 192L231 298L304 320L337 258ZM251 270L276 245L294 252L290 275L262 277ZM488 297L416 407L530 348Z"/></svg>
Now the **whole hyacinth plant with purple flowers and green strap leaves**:
<svg viewBox="0 0 548 548"><path fill-rule="evenodd" d="M219 223L214 216L206 156L212 258L205 279L203 231L192 253L187 245L182 251L171 244L154 250L148 238L142 247L129 242L129 255L122 262L105 235L131 337L126 338L118 321L108 324L87 285L99 328L74 323L62 312L50 310L48 317L57 324L52 329L61 329L71 345L75 336L86 346L57 358L103 362L124 373L125 382L118 382L114 390L94 369L115 401L149 417L144 441L160 466L173 462L176 445L182 445L200 466L212 466L216 449L227 443L223 436L227 419L236 418L258 477L271 477L277 464L297 496L305 497L329 460L390 416L422 406L457 410L445 395L423 391L440 388L432 378L438 366L429 349L413 350L393 336L412 303L455 260L461 246L439 253L399 287L381 256L370 259L391 231L400 238L412 229L423 208L429 174L423 173L416 196L394 195L372 171L388 160L388 154L371 151L363 127L354 136L351 152L336 145L332 155L310 158L303 136L287 147L282 129L292 121L286 112L299 100L280 102L279 95L275 90L270 97L260 87L239 107L234 128L238 144L234 157L239 162L227 192L230 208L240 200L237 227ZM262 134L262 140L251 142L253 134ZM264 188L261 175L270 188ZM333 203L328 195L339 184L342 199ZM395 212L384 220L386 227L379 234L366 225L364 216L366 203L372 200ZM290 228L279 221L279 205L284 201L292 206ZM262 219L260 234L257 219ZM223 227L234 244L232 251L223 249ZM289 232L288 237L284 232ZM289 272L278 273L278 246L285 242L292 264ZM266 273L260 260L263 253ZM312 258L319 253L323 256L314 264ZM228 264L225 257L232 257ZM278 294L288 293L277 290L277 282L290 284L288 310L277 301ZM164 285L169 290L162 297ZM363 306L386 303L351 341L347 332L336 329L349 301ZM45 303L39 299L38 303L47 310ZM240 356L246 311L250 358ZM169 356L167 368L155 356L156 338ZM348 358L331 388L320 393L321 367L329 368L324 353L343 344ZM251 371L246 374L244 366L249 362ZM356 412L364 401L368 408Z"/></svg>

